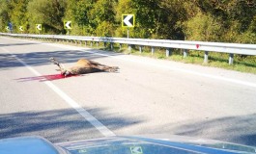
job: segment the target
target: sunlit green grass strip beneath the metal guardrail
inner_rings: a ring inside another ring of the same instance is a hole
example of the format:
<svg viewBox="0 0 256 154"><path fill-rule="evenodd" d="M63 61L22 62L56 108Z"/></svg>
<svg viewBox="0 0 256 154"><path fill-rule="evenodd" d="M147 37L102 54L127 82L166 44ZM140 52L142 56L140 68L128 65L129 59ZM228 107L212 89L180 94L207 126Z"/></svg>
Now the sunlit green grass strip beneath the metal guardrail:
<svg viewBox="0 0 256 154"><path fill-rule="evenodd" d="M128 53L125 51L124 53ZM234 64L229 64L229 54L209 52L208 63L204 63L203 51L189 51L187 57L184 58L183 52L179 49L172 51L172 55L165 56L165 49L155 48L155 53L152 55L150 47L144 47L143 52L140 53L137 47L132 48L129 54L151 57L156 59L163 59L168 61L182 62L185 64L200 64L204 66L219 67L229 70L241 71L246 73L256 74L256 56L241 56L235 55Z"/></svg>

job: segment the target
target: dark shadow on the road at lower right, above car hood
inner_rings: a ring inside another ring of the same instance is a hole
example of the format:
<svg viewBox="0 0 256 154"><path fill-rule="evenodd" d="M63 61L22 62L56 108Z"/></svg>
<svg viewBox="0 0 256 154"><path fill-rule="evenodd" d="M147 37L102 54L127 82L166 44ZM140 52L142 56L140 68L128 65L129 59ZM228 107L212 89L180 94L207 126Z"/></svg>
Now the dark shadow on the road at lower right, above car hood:
<svg viewBox="0 0 256 154"><path fill-rule="evenodd" d="M256 114L247 116L228 116L215 119L205 119L198 122L181 121L170 123L152 132L172 132L172 134L229 141L256 146Z"/></svg>

